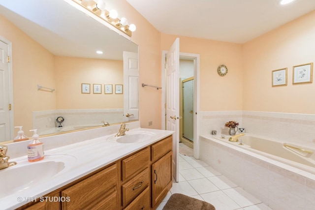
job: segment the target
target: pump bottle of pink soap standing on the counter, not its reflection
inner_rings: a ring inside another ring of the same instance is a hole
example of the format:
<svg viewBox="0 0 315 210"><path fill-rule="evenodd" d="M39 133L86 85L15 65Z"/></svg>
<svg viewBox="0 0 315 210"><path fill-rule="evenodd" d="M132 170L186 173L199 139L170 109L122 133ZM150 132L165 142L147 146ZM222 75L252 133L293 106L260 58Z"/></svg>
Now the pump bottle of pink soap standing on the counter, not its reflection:
<svg viewBox="0 0 315 210"><path fill-rule="evenodd" d="M37 129L30 131L33 131L34 134L32 142L28 145L28 159L30 162L35 162L44 159L44 143L38 139Z"/></svg>

